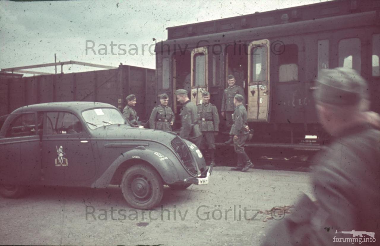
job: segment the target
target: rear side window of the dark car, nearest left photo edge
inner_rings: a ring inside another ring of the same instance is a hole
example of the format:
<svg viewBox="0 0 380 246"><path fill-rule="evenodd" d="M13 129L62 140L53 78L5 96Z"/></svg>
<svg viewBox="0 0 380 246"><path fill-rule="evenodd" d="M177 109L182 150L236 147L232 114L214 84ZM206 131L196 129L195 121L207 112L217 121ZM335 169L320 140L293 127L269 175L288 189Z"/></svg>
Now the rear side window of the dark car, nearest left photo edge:
<svg viewBox="0 0 380 246"><path fill-rule="evenodd" d="M6 138L36 135L35 114L27 113L17 116L9 125Z"/></svg>

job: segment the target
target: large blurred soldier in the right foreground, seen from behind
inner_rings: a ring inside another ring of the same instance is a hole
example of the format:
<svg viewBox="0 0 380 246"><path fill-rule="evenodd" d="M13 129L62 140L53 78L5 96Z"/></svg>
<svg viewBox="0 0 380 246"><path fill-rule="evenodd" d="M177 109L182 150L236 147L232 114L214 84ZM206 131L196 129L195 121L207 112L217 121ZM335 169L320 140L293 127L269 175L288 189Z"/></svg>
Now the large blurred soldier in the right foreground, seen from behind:
<svg viewBox="0 0 380 246"><path fill-rule="evenodd" d="M351 245L347 242L364 238L336 232L380 235L380 131L375 129L378 115L363 104L366 81L350 68L322 70L318 81L318 117L334 138L315 158L317 202L303 195L293 214L267 233L263 245Z"/></svg>

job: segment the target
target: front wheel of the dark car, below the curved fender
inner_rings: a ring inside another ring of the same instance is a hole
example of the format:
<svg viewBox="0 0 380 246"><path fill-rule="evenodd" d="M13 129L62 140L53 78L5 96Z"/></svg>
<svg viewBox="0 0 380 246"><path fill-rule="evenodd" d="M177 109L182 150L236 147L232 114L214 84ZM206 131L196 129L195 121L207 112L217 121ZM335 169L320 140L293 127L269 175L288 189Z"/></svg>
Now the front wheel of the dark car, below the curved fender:
<svg viewBox="0 0 380 246"><path fill-rule="evenodd" d="M154 168L134 165L125 171L121 183L125 200L134 208L155 208L163 196L163 182Z"/></svg>

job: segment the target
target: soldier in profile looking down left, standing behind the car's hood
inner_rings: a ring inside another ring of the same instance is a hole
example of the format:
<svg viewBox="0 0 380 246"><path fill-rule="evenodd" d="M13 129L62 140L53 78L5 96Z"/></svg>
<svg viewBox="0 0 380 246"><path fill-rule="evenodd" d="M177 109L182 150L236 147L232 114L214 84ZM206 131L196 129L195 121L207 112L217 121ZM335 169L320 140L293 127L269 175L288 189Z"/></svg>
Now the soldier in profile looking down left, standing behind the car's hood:
<svg viewBox="0 0 380 246"><path fill-rule="evenodd" d="M187 90L176 90L177 100L182 103L181 108L181 130L179 136L192 141L198 148L202 133L199 130L199 116L196 105L187 96Z"/></svg>

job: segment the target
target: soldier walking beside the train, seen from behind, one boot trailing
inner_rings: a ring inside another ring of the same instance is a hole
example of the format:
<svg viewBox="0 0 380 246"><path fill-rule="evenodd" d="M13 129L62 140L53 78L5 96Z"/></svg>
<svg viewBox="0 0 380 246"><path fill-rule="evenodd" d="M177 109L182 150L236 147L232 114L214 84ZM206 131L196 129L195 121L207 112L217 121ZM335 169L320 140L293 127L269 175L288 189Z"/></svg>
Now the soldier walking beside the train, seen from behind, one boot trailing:
<svg viewBox="0 0 380 246"><path fill-rule="evenodd" d="M236 108L233 114L233 125L230 135L233 136L234 151L237 154L237 166L231 168L231 170L245 172L253 167L253 164L244 151L244 144L249 136L249 129L247 129L247 110L243 105L243 101L244 97L242 95L235 95L234 105Z"/></svg>

